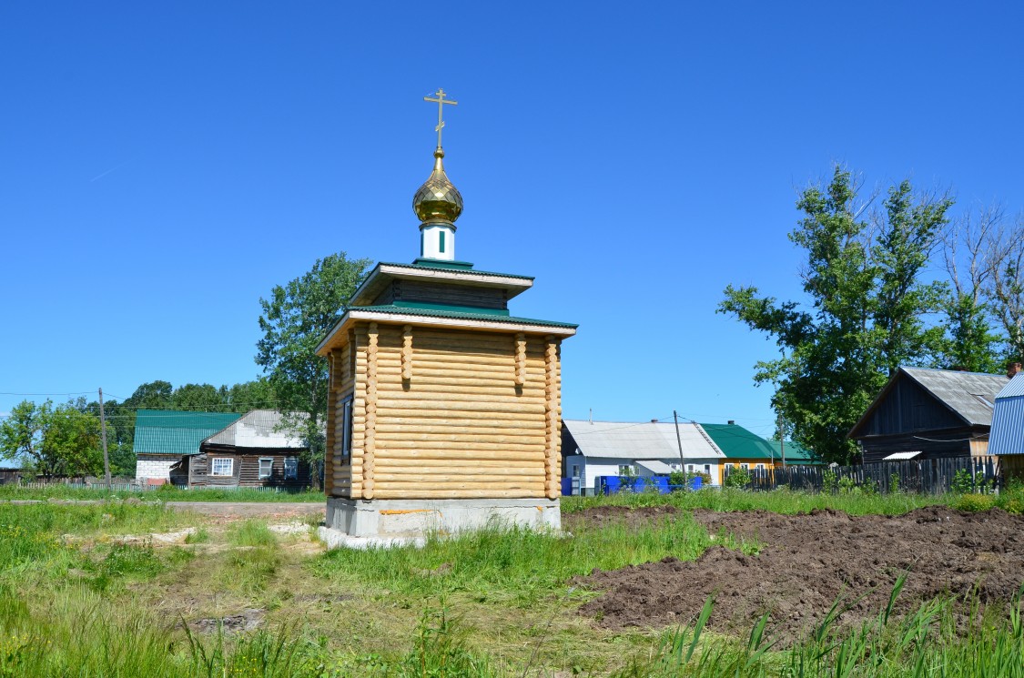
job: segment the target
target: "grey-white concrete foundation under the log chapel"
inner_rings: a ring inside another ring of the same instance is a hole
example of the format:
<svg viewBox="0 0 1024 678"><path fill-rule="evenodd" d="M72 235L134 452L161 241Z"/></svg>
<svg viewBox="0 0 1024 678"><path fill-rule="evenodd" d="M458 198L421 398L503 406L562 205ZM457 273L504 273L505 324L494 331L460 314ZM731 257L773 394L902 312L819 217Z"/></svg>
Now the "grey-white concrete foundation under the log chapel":
<svg viewBox="0 0 1024 678"><path fill-rule="evenodd" d="M493 523L559 531L561 506L557 499L374 499L327 500L325 535L328 546L351 539L408 543L430 533L453 534ZM332 535L331 533L337 533ZM338 539L334 539L337 537Z"/></svg>

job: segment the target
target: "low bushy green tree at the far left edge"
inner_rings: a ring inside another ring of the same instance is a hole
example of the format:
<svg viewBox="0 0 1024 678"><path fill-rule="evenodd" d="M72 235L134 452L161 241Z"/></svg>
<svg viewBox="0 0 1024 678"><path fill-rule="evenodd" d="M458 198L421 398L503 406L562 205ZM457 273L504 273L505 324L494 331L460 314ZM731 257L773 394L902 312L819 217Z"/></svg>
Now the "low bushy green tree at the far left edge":
<svg viewBox="0 0 1024 678"><path fill-rule="evenodd" d="M0 456L27 463L46 477L88 475L102 468L99 420L84 400L53 407L23 400L0 424Z"/></svg>

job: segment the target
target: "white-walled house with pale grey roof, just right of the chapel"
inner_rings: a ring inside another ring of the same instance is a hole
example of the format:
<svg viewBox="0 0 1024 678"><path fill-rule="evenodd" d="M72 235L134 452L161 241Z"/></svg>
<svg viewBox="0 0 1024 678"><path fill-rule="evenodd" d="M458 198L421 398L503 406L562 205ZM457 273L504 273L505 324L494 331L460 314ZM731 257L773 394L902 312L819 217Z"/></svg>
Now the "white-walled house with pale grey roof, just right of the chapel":
<svg viewBox="0 0 1024 678"><path fill-rule="evenodd" d="M566 477L578 478L580 494L593 494L598 476L663 475L686 470L708 473L717 484L725 455L700 428L682 423L562 421L562 455ZM682 447L682 456L680 456Z"/></svg>

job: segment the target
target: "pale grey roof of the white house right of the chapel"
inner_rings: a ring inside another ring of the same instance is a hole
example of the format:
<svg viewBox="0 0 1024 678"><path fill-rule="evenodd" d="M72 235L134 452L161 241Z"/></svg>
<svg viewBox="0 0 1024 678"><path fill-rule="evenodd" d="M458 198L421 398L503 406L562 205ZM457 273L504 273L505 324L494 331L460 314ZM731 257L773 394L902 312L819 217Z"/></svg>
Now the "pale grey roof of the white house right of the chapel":
<svg viewBox="0 0 1024 678"><path fill-rule="evenodd" d="M679 459L674 423L612 422L565 419L566 427L586 457L609 459ZM720 459L725 455L700 429L699 424L679 424L685 459Z"/></svg>

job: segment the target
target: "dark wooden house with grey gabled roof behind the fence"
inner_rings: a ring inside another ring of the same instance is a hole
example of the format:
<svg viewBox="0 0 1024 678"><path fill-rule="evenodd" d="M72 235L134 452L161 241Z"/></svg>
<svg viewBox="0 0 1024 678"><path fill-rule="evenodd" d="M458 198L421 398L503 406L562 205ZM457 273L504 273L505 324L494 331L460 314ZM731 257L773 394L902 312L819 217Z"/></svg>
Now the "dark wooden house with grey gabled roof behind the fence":
<svg viewBox="0 0 1024 678"><path fill-rule="evenodd" d="M900 368L850 431L863 462L988 453L995 395L1006 375Z"/></svg>

